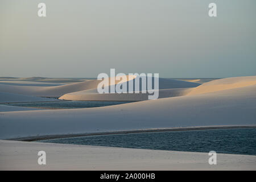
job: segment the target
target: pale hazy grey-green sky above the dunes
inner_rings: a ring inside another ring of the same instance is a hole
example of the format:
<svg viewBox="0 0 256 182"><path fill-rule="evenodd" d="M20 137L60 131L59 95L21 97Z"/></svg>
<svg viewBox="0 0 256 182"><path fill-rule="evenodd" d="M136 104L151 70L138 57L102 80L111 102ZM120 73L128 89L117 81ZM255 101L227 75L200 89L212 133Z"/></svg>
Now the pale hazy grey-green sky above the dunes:
<svg viewBox="0 0 256 182"><path fill-rule="evenodd" d="M46 3L46 17L38 4ZM209 3L217 17L209 17ZM1 0L0 76L256 75L255 0Z"/></svg>

